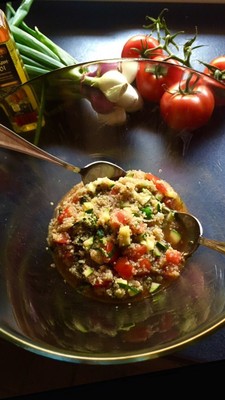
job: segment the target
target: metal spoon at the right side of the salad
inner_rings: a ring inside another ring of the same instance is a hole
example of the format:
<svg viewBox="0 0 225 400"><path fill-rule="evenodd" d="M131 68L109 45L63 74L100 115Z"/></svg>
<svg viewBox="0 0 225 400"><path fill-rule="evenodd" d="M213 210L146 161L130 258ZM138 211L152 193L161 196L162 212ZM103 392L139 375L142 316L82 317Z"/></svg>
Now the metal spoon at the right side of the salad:
<svg viewBox="0 0 225 400"><path fill-rule="evenodd" d="M175 212L175 218L182 229L181 251L185 257L191 256L200 245L225 254L225 242L203 237L201 222L192 214Z"/></svg>

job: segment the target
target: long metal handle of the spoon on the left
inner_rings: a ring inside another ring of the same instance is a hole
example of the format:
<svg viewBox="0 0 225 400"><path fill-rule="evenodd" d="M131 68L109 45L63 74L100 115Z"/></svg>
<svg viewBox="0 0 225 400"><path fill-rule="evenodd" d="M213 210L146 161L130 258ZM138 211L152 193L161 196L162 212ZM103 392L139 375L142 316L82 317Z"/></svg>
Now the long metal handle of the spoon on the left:
<svg viewBox="0 0 225 400"><path fill-rule="evenodd" d="M40 149L2 124L0 124L0 147L28 154L29 156L37 157L42 160L51 161L76 173L80 172L79 167L75 167L74 165Z"/></svg>

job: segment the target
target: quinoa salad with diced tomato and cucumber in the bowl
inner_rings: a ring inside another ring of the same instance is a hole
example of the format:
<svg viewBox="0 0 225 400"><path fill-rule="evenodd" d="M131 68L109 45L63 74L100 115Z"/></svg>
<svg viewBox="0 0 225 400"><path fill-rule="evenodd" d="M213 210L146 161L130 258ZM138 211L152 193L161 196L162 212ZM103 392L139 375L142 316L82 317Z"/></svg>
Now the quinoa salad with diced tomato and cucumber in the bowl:
<svg viewBox="0 0 225 400"><path fill-rule="evenodd" d="M185 258L174 211L178 193L150 172L75 185L48 227L54 265L84 295L143 298L179 278Z"/></svg>

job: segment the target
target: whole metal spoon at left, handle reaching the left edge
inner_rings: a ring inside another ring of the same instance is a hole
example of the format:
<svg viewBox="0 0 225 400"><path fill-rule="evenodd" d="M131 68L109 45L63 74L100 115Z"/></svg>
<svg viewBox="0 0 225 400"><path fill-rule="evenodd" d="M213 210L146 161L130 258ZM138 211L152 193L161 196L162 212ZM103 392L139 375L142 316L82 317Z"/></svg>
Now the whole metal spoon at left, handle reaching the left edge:
<svg viewBox="0 0 225 400"><path fill-rule="evenodd" d="M40 149L34 144L30 143L26 139L17 135L11 129L0 124L0 147L15 150L20 153L28 154L40 158L42 160L51 161L55 164L61 165L62 167L78 173L81 175L83 182L89 183L97 178L108 177L110 179L119 179L124 176L126 172L116 164L109 161L94 161L83 168L76 167L73 164L61 160L58 157Z"/></svg>

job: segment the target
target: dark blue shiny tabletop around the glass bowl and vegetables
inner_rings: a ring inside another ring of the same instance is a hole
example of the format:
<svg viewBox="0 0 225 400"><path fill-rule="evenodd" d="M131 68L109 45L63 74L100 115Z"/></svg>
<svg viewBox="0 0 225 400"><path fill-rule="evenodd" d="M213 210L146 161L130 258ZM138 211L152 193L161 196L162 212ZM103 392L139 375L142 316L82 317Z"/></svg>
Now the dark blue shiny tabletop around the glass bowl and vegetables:
<svg viewBox="0 0 225 400"><path fill-rule="evenodd" d="M148 2L36 1L27 22L37 25L77 61L92 61L120 57L126 39L143 30L145 16L157 16L164 6ZM175 31L184 30L190 37L195 26L198 28L197 44L203 45L198 58L210 60L225 54L225 4L166 3L166 7L168 25ZM225 328L175 356L196 362L225 360Z"/></svg>

